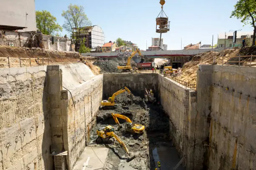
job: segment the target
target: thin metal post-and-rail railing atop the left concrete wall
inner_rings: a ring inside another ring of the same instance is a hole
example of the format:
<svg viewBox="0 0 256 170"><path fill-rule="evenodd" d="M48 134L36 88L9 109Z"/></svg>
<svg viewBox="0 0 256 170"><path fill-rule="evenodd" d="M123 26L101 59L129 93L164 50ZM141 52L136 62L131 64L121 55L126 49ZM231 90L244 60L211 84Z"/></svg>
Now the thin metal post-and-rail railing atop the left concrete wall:
<svg viewBox="0 0 256 170"><path fill-rule="evenodd" d="M26 64L29 64L28 66L32 67L32 66L40 66L40 65L49 65L49 59L50 58L21 58L21 57L0 57L0 59L7 59L6 62L0 62L0 64L8 66L9 68L12 65L20 65L20 67L22 67L22 64L25 64L24 67L27 67ZM18 59L18 62L11 62L10 59ZM25 60L25 62L23 62L23 60ZM29 61L28 61L29 60ZM35 62L31 62L31 60L34 60Z"/></svg>

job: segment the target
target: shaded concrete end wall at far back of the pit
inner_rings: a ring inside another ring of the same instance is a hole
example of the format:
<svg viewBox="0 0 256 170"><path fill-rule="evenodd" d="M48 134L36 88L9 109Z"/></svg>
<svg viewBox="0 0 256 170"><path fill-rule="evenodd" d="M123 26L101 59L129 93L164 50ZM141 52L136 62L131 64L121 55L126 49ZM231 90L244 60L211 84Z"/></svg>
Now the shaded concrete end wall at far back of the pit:
<svg viewBox="0 0 256 170"><path fill-rule="evenodd" d="M104 74L103 98L108 99L114 92L123 87L128 87L133 95L144 96L145 88L152 89L155 96L158 92L158 74Z"/></svg>

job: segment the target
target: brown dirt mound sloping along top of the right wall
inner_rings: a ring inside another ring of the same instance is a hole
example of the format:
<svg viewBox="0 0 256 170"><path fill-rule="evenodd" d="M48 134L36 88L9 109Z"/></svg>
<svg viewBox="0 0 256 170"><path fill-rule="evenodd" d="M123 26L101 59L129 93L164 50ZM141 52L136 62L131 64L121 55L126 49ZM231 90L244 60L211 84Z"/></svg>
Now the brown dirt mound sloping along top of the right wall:
<svg viewBox="0 0 256 170"><path fill-rule="evenodd" d="M181 75L177 76L180 80L189 82L189 84L196 84L197 82L197 70L199 65L211 65L215 56L215 62L217 65L227 64L226 61L238 61L238 58L233 58L238 55L254 55L256 54L256 46L245 47L241 50L223 50L221 52L208 51L200 53L192 57L192 60L185 63L182 67ZM256 58L255 58L256 59ZM254 59L254 60L255 60ZM248 60L243 58L241 60Z"/></svg>

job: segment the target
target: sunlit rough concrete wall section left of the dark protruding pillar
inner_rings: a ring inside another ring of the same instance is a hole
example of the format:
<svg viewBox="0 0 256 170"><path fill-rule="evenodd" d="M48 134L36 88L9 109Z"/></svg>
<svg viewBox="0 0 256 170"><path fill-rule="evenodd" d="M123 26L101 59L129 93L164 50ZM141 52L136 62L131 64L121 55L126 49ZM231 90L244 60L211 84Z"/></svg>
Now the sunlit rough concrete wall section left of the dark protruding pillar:
<svg viewBox="0 0 256 170"><path fill-rule="evenodd" d="M0 69L0 169L51 169L46 67Z"/></svg>

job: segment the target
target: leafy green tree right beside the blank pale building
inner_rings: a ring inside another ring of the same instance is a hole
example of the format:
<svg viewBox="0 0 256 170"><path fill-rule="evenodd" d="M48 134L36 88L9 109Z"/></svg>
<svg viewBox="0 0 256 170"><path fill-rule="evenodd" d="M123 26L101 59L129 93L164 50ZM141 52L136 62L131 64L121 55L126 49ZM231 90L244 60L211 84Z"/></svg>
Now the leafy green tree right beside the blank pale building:
<svg viewBox="0 0 256 170"><path fill-rule="evenodd" d="M36 27L43 34L54 35L55 32L62 31L61 26L56 23L57 19L49 11L36 11Z"/></svg>

